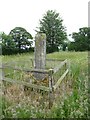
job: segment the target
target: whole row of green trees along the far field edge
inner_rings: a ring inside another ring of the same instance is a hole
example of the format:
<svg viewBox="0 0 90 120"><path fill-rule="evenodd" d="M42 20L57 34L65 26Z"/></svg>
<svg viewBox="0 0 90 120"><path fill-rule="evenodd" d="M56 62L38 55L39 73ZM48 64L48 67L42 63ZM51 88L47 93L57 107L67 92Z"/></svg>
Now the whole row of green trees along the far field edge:
<svg viewBox="0 0 90 120"><path fill-rule="evenodd" d="M68 49L69 51L88 51L90 50L90 28L83 27L79 32L70 34L71 42L68 40L66 27L59 13L48 10L36 27L36 32L46 34L46 51L52 53L55 51ZM10 55L22 52L34 51L32 47L32 35L22 27L15 27L7 35L4 32L0 34L0 45L3 55Z"/></svg>

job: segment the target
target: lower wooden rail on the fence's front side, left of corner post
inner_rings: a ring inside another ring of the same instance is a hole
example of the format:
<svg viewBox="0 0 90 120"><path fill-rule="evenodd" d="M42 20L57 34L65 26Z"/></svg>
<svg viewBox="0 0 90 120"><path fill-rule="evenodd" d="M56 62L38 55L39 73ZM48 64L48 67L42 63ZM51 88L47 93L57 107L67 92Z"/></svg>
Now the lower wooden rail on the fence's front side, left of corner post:
<svg viewBox="0 0 90 120"><path fill-rule="evenodd" d="M16 83L16 84L20 84L20 85L25 85L27 87L40 89L40 90L44 90L44 91L49 91L50 90L49 87L35 85L35 84L31 84L31 83L20 81L20 80L13 80L11 78L5 78L4 77L4 78L2 78L2 80L6 81L6 82L10 82L10 83Z"/></svg>

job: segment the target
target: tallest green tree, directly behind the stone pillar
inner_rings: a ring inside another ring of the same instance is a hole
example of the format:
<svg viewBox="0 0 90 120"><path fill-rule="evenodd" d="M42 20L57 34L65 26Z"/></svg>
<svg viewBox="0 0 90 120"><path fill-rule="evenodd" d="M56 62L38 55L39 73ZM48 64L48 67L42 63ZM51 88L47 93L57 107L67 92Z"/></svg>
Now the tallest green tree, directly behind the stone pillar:
<svg viewBox="0 0 90 120"><path fill-rule="evenodd" d="M62 25L63 20L59 13L48 10L40 20L40 27L37 32L45 33L47 37L47 52L59 50L59 46L67 39L65 27Z"/></svg>

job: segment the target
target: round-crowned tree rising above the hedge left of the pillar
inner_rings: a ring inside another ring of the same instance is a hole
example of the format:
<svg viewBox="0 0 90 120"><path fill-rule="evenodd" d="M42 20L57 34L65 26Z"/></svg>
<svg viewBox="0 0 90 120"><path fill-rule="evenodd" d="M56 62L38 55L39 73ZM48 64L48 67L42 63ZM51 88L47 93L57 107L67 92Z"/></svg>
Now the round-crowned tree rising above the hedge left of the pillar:
<svg viewBox="0 0 90 120"><path fill-rule="evenodd" d="M33 39L32 35L22 27L15 27L10 31L9 35L16 43L16 48L19 52L22 49L27 49L27 46L30 48L32 45L32 41L30 41L30 39Z"/></svg>

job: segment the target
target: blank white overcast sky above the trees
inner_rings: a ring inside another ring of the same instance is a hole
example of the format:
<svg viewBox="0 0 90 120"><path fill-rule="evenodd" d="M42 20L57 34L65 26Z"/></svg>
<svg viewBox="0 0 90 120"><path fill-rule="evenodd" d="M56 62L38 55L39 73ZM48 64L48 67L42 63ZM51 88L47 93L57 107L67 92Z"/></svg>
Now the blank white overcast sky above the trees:
<svg viewBox="0 0 90 120"><path fill-rule="evenodd" d="M89 0L0 0L0 31L6 34L23 27L34 37L39 20L47 10L56 10L63 19L67 34L88 26Z"/></svg>

